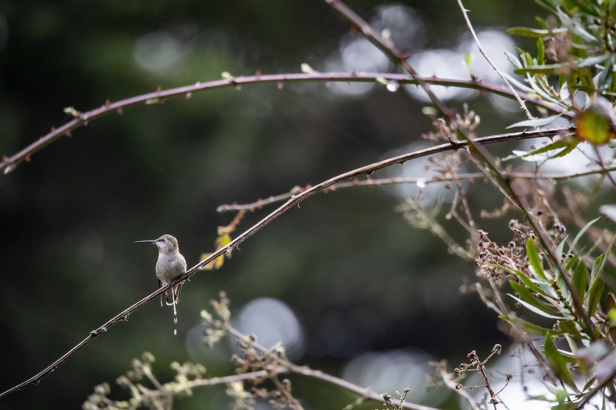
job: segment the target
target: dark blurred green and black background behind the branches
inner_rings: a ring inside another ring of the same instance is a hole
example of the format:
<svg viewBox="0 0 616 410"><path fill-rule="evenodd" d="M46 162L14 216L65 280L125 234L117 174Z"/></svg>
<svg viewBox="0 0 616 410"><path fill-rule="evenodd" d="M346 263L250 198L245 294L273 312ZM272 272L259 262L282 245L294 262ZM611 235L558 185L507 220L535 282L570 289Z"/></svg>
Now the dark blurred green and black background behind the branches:
<svg viewBox="0 0 616 410"><path fill-rule="evenodd" d="M466 31L455 1L400 4L423 18L423 49L455 47ZM383 3L349 6L370 21ZM478 30L533 25L533 15L543 15L532 1L465 6ZM145 58L157 50L143 51L144 44L169 39L179 57L158 54L157 70L139 64L138 50ZM327 71L326 61L350 40L349 25L321 1L3 1L0 154L12 155L62 125L68 106L87 111L158 86L219 79L222 71L297 73L304 62ZM471 100L482 116L479 135L522 119ZM155 290L156 250L134 240L175 235L193 266L213 250L216 227L233 219L216 213L218 205L316 184L383 159L430 129L423 105L384 87L358 98L324 84L194 93L188 101L139 104L95 120L1 176L0 390L33 376ZM408 226L394 212L403 199L389 192L359 187L302 202L243 243L221 270L185 285L177 336L171 310L152 302L37 387L4 398L0 408L78 408L105 381L120 398L116 377L144 351L155 355L160 380L169 380L171 361L196 360L187 344L198 336L188 335L198 335L199 312L220 290L234 312L257 298L287 304L305 338L295 361L336 375L365 352L410 349L458 363L469 350L507 344L477 296L458 293L472 268L428 232ZM477 210L500 203L498 195L473 189L469 198ZM248 214L240 232L271 209ZM493 224L508 240L506 223ZM331 333L338 345L324 342ZM232 371L225 354L203 353L209 375ZM322 384L295 386L310 408L353 400ZM201 389L177 408L224 408L221 392Z"/></svg>

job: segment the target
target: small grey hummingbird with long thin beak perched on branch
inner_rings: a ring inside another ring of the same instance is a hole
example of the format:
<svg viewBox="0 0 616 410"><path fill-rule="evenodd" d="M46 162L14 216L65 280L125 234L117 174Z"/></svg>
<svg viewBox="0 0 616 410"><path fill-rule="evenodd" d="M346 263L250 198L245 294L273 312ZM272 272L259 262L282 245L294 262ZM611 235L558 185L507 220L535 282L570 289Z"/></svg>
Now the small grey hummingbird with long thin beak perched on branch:
<svg viewBox="0 0 616 410"><path fill-rule="evenodd" d="M155 240L136 240L137 242L150 242L158 248L158 261L156 261L156 277L158 278L158 287L168 285L173 282L179 275L186 273L186 259L180 253L177 246L177 239L171 235L165 234ZM184 283L184 282L182 282ZM180 291L182 291L182 283L178 283L171 289L166 290L166 302L169 306L173 305L174 309L177 302L180 301ZM163 295L160 296L160 306L163 306Z"/></svg>

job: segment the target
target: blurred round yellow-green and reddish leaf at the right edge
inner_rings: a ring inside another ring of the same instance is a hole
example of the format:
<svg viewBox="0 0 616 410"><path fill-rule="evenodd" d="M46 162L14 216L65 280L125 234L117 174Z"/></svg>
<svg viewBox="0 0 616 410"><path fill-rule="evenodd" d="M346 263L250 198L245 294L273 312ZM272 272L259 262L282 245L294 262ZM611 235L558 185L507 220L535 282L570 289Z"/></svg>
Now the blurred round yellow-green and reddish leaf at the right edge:
<svg viewBox="0 0 616 410"><path fill-rule="evenodd" d="M616 138L614 110L609 100L597 97L576 119L577 136L582 141L602 145Z"/></svg>

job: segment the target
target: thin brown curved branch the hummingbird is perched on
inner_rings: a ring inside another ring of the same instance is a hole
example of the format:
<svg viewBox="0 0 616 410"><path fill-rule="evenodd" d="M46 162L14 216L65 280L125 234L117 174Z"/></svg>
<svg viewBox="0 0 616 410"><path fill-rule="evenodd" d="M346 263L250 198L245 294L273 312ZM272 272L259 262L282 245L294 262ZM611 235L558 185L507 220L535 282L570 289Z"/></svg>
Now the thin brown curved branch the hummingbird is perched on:
<svg viewBox="0 0 616 410"><path fill-rule="evenodd" d="M534 138L534 137L537 137L537 136L554 135L557 132L562 132L562 130L572 130L572 127L570 127L570 128L552 128L552 129L548 129L548 130L541 130L541 132L538 132L538 131L535 131L535 132L520 132L520 133L511 133L511 134L503 134L503 135L484 136L482 138L476 138L473 141L473 143L476 144L476 145L483 145L483 144L500 143L500 142L503 142L503 141L523 140L525 138ZM73 347L72 349L68 350L67 353L64 353L59 359L55 360L54 363L52 363L51 365L47 366L45 369L40 371L38 374L35 374L34 376L30 377L30 379L25 380L25 382L22 382L22 383L16 385L15 387L12 387L9 390L6 390L6 392L0 393L0 398L2 398L4 396L7 396L10 393L17 392L17 390L20 390L21 388L25 387L26 385L38 384L38 382L41 379L43 379L44 376L46 376L47 374L51 373L56 368L58 368L60 365L62 365L62 363L64 361L66 361L68 358L73 356L76 352L81 350L89 342L94 340L94 338L99 336L99 334L107 331L109 328L111 328L111 326L116 325L116 323L118 323L120 321L128 320L128 316L132 312L134 312L135 310L139 309L139 307L143 306L147 302L149 302L152 299L156 298L158 295L160 295L164 291L168 290L172 286L175 286L178 283L180 283L180 282L190 278L192 275L197 274L197 272L202 267L206 266L206 264L208 264L209 262L213 261L218 256L221 256L222 254L231 253L231 251L233 249L237 248L237 246L240 245L240 243L244 242L246 239L251 237L257 231L262 229L262 227L264 227L265 225L267 225L270 222L274 221L274 219L278 218L278 216L282 215L286 211L288 211L291 208L293 208L296 205L298 205L300 202L302 202L302 200L305 200L305 199L311 197L312 195L317 194L317 192L321 192L321 191L325 190L326 188L328 188L330 186L333 186L335 184L341 183L342 181L346 181L347 179L352 179L352 178L355 178L355 177L360 176L360 175L370 175L371 173L373 173L376 170L380 170L380 169L383 169L383 168L386 168L386 167L390 167L391 165L403 164L404 162L407 162L408 160L411 160L411 159L416 159L416 158L419 158L419 157L424 157L424 156L428 156L428 155L432 155L432 154L437 154L439 152L450 151L452 149L455 150L455 149L460 149L460 148L466 148L466 147L468 147L470 145L471 145L470 141L451 141L450 143L440 144L440 145L437 145L437 146L434 146L434 147L431 147L431 148L425 148L425 149L420 149L418 151L409 152L407 154L403 154L403 155L400 155L400 156L397 156L397 157L392 157L392 158L389 158L389 159L386 159L386 160L383 160L383 161L380 161L380 162L375 162L373 164L365 165L364 167L356 168L354 170L342 173L340 175L334 176L333 178L327 179L326 181L323 181L322 183L319 183L319 184L317 184L317 185L315 185L315 186L313 186L313 187L311 187L309 189L306 189L306 191L303 191L303 192L301 192L301 193L299 193L297 195L293 195L291 197L291 199L286 201L283 205L278 207L275 211L273 211L269 215L265 216L265 218L261 219L261 221L259 221L258 223L254 224L247 231L243 232L241 235L239 235L238 237L233 239L229 243L229 245L224 246L223 248L215 251L208 258L203 259L203 261L199 262L197 265L195 265L192 268L190 268L184 275L181 275L181 276L177 277L176 280L174 280L173 282L169 283L167 286L163 286L160 289L156 290L155 292L149 294L145 298L141 299L139 302L136 302L131 307L128 307L127 309L124 309L122 312L118 313L113 318L111 318L110 320L108 320L105 323L103 323L103 325L99 326L99 328L91 331L90 334L88 334L88 336L85 339L83 339L83 341L79 342L77 345L75 345L75 347Z"/></svg>

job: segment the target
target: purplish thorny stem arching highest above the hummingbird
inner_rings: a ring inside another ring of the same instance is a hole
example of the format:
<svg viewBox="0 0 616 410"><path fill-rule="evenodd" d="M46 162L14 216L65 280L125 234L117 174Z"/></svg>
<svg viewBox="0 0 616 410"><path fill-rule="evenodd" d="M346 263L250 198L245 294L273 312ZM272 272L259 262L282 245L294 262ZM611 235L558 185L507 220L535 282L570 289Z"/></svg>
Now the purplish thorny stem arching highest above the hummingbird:
<svg viewBox="0 0 616 410"><path fill-rule="evenodd" d="M455 80L447 78L432 77L419 77L416 79L413 76L407 74L389 74L389 73L304 73L304 74L269 74L245 77L231 77L216 81L209 81L200 83L197 82L193 85L184 85L183 87L176 87L168 90L157 90L152 93L145 93L137 95L135 97L126 98L124 100L110 102L107 101L99 108L91 109L86 112L79 112L74 108L67 108L69 114L75 118L62 125L61 127L52 127L51 131L46 135L39 138L34 143L31 143L26 148L17 152L10 157L2 157L0 162L0 170L4 170L4 173L9 173L14 170L22 161L29 161L34 152L39 151L48 144L51 144L55 140L58 140L62 136L70 136L71 132L76 128L86 126L90 121L98 119L107 114L118 112L122 114L123 109L129 106L133 106L140 103L153 104L161 103L166 98L180 97L185 98L192 97L192 93L201 92L211 89L219 89L226 87L240 88L244 84L255 84L260 82L275 82L278 85L282 85L288 82L375 82L382 84L383 82L397 82L399 84L414 84L419 85L421 82L424 84L432 85L444 85L446 87L460 87L466 89L475 89L484 93L491 93L495 95L501 95L503 97L513 98L511 92L503 86L490 84L482 81L481 79L468 79L468 80ZM524 93L520 93L521 97L530 103L536 104L549 111L557 112L558 114L564 114L564 116L573 116L573 113L567 113L562 108L556 107L553 104L548 104L540 98L530 96Z"/></svg>

